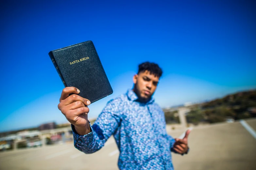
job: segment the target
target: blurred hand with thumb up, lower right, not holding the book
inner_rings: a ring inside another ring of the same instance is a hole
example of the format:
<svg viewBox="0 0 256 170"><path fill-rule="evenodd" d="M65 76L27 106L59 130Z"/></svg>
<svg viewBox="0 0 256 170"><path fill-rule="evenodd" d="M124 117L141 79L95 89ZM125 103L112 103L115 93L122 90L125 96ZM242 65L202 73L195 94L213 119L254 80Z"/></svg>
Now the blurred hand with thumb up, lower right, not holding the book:
<svg viewBox="0 0 256 170"><path fill-rule="evenodd" d="M186 131L186 135L183 139L175 138L175 143L173 145L173 149L179 153L184 154L188 151L188 135L190 134L191 130Z"/></svg>

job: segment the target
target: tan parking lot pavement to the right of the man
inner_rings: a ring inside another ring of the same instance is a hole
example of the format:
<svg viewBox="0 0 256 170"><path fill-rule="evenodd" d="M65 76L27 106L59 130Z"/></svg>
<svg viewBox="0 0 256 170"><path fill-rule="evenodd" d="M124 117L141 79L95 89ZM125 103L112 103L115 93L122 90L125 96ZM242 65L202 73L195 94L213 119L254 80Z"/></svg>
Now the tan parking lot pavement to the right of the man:
<svg viewBox="0 0 256 170"><path fill-rule="evenodd" d="M256 119L247 122L255 125ZM256 167L256 139L239 121L194 128L188 142L191 148L188 155L173 154L175 170L252 170Z"/></svg>

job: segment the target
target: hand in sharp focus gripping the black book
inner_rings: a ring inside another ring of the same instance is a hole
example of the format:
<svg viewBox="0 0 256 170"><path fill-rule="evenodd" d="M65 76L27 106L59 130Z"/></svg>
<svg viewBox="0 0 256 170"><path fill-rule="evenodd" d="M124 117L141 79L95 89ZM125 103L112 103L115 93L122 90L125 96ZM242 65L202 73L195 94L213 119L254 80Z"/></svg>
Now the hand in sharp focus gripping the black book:
<svg viewBox="0 0 256 170"><path fill-rule="evenodd" d="M91 102L77 94L80 91L75 87L66 87L62 90L58 108L66 119L75 126L79 135L86 135L91 132L88 123L88 105ZM70 93L75 93L70 95Z"/></svg>

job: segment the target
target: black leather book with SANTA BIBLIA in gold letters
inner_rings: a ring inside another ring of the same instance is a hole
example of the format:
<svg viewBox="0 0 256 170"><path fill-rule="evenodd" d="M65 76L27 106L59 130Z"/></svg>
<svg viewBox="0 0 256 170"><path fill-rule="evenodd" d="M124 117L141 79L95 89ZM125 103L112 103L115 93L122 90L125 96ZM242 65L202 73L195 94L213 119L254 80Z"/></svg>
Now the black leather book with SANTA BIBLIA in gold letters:
<svg viewBox="0 0 256 170"><path fill-rule="evenodd" d="M91 103L113 93L92 41L49 52L65 87L76 87Z"/></svg>

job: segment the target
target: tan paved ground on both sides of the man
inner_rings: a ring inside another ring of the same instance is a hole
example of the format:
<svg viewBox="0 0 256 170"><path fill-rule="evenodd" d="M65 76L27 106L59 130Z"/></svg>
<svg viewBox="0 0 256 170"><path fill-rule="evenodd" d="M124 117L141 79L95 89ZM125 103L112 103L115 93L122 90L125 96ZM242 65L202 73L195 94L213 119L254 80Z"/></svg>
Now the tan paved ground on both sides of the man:
<svg viewBox="0 0 256 170"><path fill-rule="evenodd" d="M247 120L256 131L256 119ZM182 134L170 130L173 137ZM196 127L189 136L188 155L173 155L175 170L253 170L256 139L240 122ZM111 137L96 153L84 154L73 144L0 153L1 170L115 170L119 151Z"/></svg>

